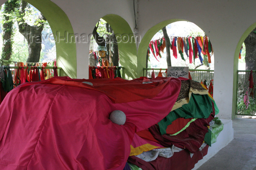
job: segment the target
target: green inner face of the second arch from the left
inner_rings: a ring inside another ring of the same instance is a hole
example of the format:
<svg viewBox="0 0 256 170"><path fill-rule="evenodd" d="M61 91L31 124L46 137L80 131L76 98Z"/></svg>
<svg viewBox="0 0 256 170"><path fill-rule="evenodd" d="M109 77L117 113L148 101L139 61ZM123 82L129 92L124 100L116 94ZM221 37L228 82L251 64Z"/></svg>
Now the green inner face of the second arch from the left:
<svg viewBox="0 0 256 170"><path fill-rule="evenodd" d="M102 17L112 27L118 43L119 62L124 66L125 79L137 78L137 48L135 35L122 17L109 14Z"/></svg>

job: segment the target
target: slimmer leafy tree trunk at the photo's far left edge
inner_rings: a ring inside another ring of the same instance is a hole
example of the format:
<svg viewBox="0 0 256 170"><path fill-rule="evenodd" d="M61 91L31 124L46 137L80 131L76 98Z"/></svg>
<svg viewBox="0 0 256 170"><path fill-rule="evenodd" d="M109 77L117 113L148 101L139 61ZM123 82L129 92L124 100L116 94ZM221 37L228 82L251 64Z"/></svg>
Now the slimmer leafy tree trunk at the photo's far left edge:
<svg viewBox="0 0 256 170"><path fill-rule="evenodd" d="M3 10L3 49L2 49L2 59L10 60L12 55L12 25L13 20L10 18L10 15L15 11L15 8L18 7L17 0L6 1L4 4ZM2 64L1 64L2 65Z"/></svg>

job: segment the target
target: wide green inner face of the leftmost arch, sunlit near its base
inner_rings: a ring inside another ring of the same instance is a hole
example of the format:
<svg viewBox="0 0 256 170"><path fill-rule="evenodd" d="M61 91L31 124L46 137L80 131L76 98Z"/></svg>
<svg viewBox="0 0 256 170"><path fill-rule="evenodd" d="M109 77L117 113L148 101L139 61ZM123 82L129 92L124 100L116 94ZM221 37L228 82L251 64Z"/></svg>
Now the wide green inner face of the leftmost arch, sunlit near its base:
<svg viewBox="0 0 256 170"><path fill-rule="evenodd" d="M42 12L52 29L54 38L56 37L56 63L57 67L62 68L60 75L76 78L76 43L70 41L70 36L74 35L74 31L68 16L50 0L26 0L26 2Z"/></svg>

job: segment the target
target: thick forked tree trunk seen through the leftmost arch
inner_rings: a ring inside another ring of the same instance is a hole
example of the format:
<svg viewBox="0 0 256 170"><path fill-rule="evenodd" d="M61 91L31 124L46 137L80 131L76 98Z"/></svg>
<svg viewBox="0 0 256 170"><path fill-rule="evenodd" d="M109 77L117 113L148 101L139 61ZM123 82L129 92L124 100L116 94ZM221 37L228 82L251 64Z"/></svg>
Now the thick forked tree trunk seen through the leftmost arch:
<svg viewBox="0 0 256 170"><path fill-rule="evenodd" d="M27 45L29 48L29 56L27 58L27 63L38 63L40 59L40 52L42 49L42 31L44 29L44 23L39 22L40 26L31 26L25 22L23 16L25 14L25 8L27 6L27 2L21 1L20 9L19 9L19 32L25 37L27 40ZM40 13L38 15L38 19L45 20L45 17Z"/></svg>

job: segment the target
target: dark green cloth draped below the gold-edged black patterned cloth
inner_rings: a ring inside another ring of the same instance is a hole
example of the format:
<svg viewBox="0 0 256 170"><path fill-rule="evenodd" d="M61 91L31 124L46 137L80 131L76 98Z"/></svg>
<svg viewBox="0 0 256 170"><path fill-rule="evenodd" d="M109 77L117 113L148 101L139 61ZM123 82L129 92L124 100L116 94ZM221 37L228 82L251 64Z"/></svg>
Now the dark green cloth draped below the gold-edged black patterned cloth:
<svg viewBox="0 0 256 170"><path fill-rule="evenodd" d="M166 128L177 118L208 118L212 113L212 100L208 95L191 94L188 104L171 111L159 123L161 134L166 134Z"/></svg>

